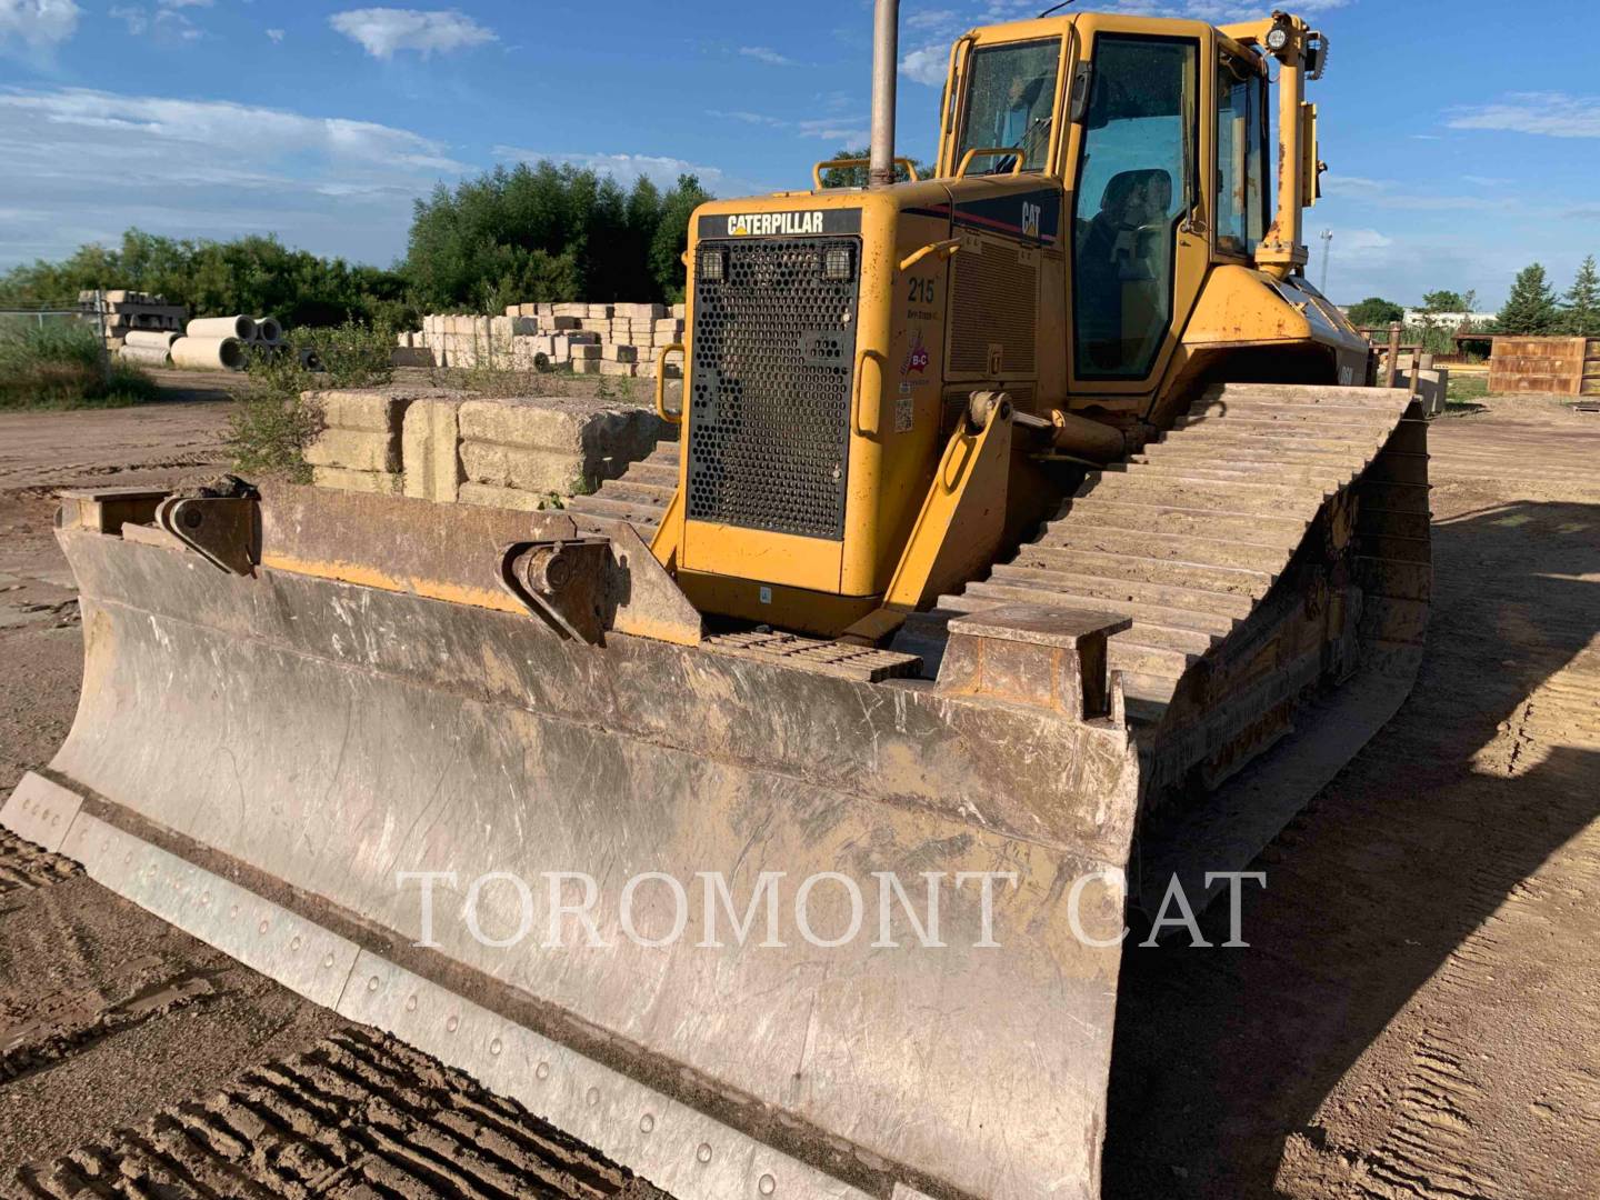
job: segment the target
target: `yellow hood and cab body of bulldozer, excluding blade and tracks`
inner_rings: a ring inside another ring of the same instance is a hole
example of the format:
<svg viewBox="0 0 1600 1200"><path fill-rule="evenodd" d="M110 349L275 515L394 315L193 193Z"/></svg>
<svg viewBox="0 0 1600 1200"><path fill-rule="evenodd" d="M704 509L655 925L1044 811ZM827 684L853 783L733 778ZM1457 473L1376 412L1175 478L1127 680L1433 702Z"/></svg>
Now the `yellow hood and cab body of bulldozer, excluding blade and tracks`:
<svg viewBox="0 0 1600 1200"><path fill-rule="evenodd" d="M1304 248L1294 250L1299 205L1314 200L1317 171L1309 106L1299 99L1301 51L1317 35L1293 19L1283 26L1280 88L1306 118L1290 126L1293 147L1285 139L1285 162L1296 170L1267 226L1270 53L1261 42L1272 27L1224 32L1194 21L1078 14L978 29L950 54L936 178L717 200L694 214L680 475L688 502L674 506L654 550L698 608L838 635L875 610L906 611L960 582L962 563L982 565L1059 502L1070 486L1062 458L1074 445L1051 435L1062 424L1056 413L1123 430L1136 450L1218 379L1365 382L1365 342L1285 269L1304 261ZM1043 86L1029 109L1037 114L1029 149L1008 158L976 125L995 94L986 70L1010 69L1002 56L1011 51ZM1115 125L1118 106L1136 114L1130 104L1162 104L1158 91L1131 102L1126 91L1147 88L1149 72L1163 64L1171 64L1170 102L1181 109L1171 120L1123 117L1120 142L1096 146L1096 122ZM1173 170L1171 147L1158 142L1178 120L1181 166ZM1157 166L1139 165L1141 139ZM1118 234L1166 242L1154 251L1160 278L1117 282L1112 302L1104 282L1090 288L1086 269L1075 266L1093 251L1096 197L1080 203L1085 186L1107 195L1117 187L1099 166L1106 154L1130 163L1123 179L1165 174L1170 194L1157 221ZM1237 232L1245 237L1224 232L1230 218L1243 218ZM829 248L848 261L850 288L813 296L792 278L762 278L762 270L792 274L795 262L821 270ZM763 262L742 267L752 254L765 254ZM726 302L739 288L774 290L776 302L749 299L741 310ZM811 304L838 312L818 322L805 312ZM1115 373L1096 370L1074 336L1093 323L1085 314L1110 307L1123 314L1123 342L1136 341L1144 358ZM840 333L848 357L805 358L806 338ZM774 342L802 346L802 357L779 362ZM765 374L752 366L762 355ZM832 406L818 405L814 395L829 386ZM762 389L768 394L755 395ZM968 491L965 474L979 459L960 453L978 434L968 413L974 394L1003 394L1022 422L1008 440L998 490L989 472L981 496ZM730 416L730 408L742 411ZM766 477L771 461L808 438L818 443L810 446L813 478L784 469ZM768 502L830 483L832 520L813 512L813 528L795 528L805 522ZM707 496L718 490L725 502ZM952 555L952 546L979 552Z"/></svg>

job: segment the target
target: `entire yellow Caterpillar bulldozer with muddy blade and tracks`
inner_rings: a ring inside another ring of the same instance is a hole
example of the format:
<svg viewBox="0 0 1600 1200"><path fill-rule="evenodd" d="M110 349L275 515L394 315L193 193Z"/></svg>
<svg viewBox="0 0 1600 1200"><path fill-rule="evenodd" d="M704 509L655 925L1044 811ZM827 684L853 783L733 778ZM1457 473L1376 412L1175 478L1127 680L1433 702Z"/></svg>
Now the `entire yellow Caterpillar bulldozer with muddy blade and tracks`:
<svg viewBox="0 0 1600 1200"><path fill-rule="evenodd" d="M682 1200L1098 1195L1125 930L1427 627L1421 408L1304 274L1326 38L974 29L920 179L896 10L870 158L694 213L677 437L595 494L66 493L3 810Z"/></svg>

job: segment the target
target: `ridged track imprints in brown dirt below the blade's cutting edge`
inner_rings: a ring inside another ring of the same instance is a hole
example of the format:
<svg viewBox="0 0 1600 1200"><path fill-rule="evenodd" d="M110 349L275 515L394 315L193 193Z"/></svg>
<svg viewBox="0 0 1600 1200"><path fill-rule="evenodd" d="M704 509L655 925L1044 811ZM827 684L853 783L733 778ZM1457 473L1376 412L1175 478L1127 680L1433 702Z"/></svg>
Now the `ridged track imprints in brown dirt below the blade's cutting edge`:
<svg viewBox="0 0 1600 1200"><path fill-rule="evenodd" d="M354 1027L138 1130L24 1166L5 1195L662 1197L467 1075Z"/></svg>

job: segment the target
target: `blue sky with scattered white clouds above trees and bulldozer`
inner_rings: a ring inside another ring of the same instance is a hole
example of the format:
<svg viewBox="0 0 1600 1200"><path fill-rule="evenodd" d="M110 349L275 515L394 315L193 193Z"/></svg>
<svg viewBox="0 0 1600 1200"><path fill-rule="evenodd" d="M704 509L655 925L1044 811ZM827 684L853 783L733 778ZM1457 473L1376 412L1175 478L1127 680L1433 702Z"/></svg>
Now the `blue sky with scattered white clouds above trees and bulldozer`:
<svg viewBox="0 0 1600 1200"><path fill-rule="evenodd" d="M1080 0L1229 21L1235 0ZM906 0L901 146L931 157L950 40L1045 0ZM1504 298L1600 254L1600 5L1309 0L1328 290ZM277 232L387 264L411 202L552 157L718 195L800 187L864 141L870 0L0 0L0 267L114 242Z"/></svg>

